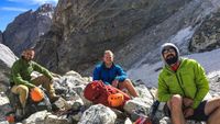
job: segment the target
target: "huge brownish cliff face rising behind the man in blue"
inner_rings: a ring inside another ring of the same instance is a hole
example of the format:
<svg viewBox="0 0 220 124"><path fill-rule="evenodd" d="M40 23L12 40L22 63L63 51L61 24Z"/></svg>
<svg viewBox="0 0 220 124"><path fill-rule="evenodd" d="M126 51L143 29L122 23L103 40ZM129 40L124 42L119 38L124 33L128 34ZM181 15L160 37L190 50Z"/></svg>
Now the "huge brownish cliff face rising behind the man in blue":
<svg viewBox="0 0 220 124"><path fill-rule="evenodd" d="M94 66L105 49L117 53L128 47L131 37L162 23L189 1L59 0L52 30L36 46L37 60L55 71L81 72ZM145 40L144 46L154 44ZM127 54L117 55L125 58Z"/></svg>

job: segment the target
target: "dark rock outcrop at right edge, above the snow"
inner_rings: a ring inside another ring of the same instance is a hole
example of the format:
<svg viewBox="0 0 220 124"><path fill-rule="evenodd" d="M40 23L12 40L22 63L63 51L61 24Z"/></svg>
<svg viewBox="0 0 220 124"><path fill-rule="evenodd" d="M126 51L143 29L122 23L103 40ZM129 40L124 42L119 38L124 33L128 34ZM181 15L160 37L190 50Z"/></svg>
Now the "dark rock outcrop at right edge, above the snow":
<svg viewBox="0 0 220 124"><path fill-rule="evenodd" d="M191 52L206 52L220 47L220 10L210 14L196 31L190 42Z"/></svg>

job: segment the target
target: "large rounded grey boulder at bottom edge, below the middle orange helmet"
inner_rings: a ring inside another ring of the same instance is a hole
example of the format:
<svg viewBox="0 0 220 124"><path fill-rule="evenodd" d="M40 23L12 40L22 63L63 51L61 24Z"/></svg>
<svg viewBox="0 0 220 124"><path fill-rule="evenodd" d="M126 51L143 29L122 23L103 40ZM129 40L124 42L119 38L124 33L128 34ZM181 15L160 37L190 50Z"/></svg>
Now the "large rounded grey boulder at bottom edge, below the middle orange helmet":
<svg viewBox="0 0 220 124"><path fill-rule="evenodd" d="M117 115L111 109L102 105L91 105L86 110L78 124L114 124Z"/></svg>

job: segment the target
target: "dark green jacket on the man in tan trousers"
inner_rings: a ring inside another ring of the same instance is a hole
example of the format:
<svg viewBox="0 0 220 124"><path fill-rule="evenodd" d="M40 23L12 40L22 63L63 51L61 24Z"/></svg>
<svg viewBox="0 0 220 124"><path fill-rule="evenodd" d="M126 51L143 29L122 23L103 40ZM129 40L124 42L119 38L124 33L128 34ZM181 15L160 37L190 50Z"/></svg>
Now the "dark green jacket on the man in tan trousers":
<svg viewBox="0 0 220 124"><path fill-rule="evenodd" d="M51 72L44 67L40 66L35 61L28 63L24 59L20 58L13 64L11 68L10 82L14 84L24 84L29 88L33 88L34 84L32 84L31 82L31 74L33 71L41 72L50 79L53 79Z"/></svg>

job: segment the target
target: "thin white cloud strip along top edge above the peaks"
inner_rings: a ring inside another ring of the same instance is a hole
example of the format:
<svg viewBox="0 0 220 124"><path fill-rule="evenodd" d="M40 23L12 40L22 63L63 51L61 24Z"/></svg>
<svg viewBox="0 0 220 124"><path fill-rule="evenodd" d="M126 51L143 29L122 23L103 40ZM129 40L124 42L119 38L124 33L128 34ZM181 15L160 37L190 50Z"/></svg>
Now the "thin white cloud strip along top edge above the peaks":
<svg viewBox="0 0 220 124"><path fill-rule="evenodd" d="M56 4L58 0L8 0L11 2L21 2L28 4L43 4L43 3L53 3Z"/></svg>

